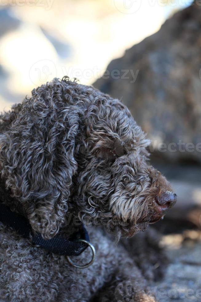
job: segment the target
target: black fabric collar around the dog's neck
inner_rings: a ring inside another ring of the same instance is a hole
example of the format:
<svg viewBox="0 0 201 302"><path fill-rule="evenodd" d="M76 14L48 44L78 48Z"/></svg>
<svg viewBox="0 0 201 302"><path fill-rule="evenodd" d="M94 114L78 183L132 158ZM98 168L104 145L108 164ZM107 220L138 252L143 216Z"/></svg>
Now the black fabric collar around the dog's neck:
<svg viewBox="0 0 201 302"><path fill-rule="evenodd" d="M88 244L79 240L83 239L89 242L89 235L83 224L78 232L70 236L70 240L58 235L52 239L45 240L40 233L35 234L33 232L29 221L24 216L12 212L9 207L2 203L0 203L0 221L6 226L13 228L23 238L30 239L33 244L37 244L54 254L78 256L88 247Z"/></svg>

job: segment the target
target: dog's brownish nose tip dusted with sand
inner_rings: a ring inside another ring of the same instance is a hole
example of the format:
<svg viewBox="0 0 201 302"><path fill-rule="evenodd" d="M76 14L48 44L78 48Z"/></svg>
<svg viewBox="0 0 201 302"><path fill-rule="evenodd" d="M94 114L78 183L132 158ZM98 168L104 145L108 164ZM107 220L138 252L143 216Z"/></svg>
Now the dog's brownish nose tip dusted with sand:
<svg viewBox="0 0 201 302"><path fill-rule="evenodd" d="M172 206L176 203L176 194L166 191L163 192L160 196L157 196L157 204L160 212L167 212Z"/></svg>

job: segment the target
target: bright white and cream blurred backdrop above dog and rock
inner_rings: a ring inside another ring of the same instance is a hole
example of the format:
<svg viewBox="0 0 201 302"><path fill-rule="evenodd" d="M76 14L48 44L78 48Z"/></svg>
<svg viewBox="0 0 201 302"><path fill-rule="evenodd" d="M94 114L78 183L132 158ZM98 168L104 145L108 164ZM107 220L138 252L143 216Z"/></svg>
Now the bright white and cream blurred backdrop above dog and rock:
<svg viewBox="0 0 201 302"><path fill-rule="evenodd" d="M191 0L0 0L0 111L64 75L92 84Z"/></svg>

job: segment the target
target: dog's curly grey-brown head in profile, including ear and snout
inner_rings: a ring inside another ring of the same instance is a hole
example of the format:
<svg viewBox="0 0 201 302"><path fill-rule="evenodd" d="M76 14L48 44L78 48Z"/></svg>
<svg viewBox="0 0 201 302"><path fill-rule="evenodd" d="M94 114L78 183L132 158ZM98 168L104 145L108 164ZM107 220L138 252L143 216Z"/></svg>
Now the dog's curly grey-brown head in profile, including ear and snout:
<svg viewBox="0 0 201 302"><path fill-rule="evenodd" d="M68 78L34 89L0 135L0 169L30 224L57 234L67 211L132 236L176 202L149 141L119 100Z"/></svg>

